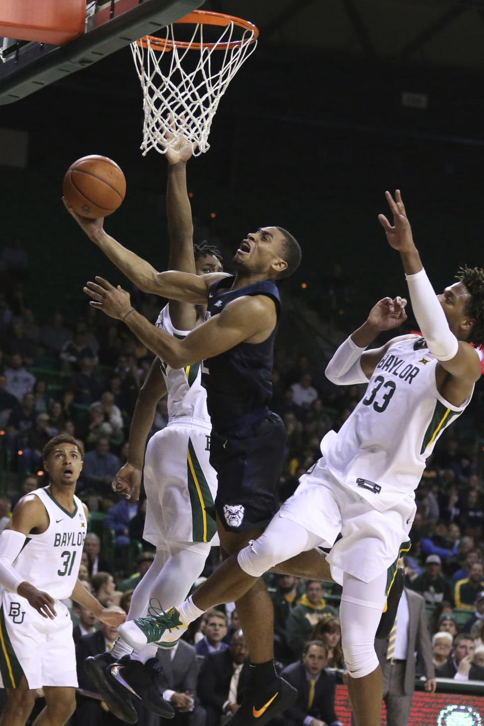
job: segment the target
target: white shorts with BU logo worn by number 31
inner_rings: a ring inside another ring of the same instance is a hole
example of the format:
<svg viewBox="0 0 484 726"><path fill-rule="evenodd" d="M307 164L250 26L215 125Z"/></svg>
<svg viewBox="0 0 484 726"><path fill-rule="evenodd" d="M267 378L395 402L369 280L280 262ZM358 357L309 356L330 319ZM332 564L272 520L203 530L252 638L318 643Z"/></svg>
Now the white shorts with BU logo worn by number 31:
<svg viewBox="0 0 484 726"><path fill-rule="evenodd" d="M56 600L57 616L44 618L25 597L0 588L0 685L18 688L22 675L28 688L77 688L73 622Z"/></svg>

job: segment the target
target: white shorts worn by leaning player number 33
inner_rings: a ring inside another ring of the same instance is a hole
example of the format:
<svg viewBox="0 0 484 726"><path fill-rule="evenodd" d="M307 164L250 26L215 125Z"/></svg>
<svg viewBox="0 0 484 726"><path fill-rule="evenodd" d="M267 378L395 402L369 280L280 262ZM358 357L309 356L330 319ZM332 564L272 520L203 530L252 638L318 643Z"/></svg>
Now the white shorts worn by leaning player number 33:
<svg viewBox="0 0 484 726"><path fill-rule="evenodd" d="M387 570L392 579L396 561L410 548L414 497L409 494L380 512L329 471L319 467L317 473L317 478L311 474L300 478L298 489L284 502L279 515L316 535L320 547L331 547L327 561L335 582L343 584L343 572L371 582Z"/></svg>

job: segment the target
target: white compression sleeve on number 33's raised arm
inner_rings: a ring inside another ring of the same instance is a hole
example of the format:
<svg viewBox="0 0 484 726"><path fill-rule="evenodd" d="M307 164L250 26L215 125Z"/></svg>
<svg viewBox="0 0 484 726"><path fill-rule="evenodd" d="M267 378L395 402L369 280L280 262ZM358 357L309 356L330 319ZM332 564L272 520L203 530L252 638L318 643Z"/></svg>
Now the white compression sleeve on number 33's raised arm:
<svg viewBox="0 0 484 726"><path fill-rule="evenodd" d="M452 333L446 314L435 295L424 269L407 274L411 306L430 353L440 361L454 358L459 350L459 340Z"/></svg>

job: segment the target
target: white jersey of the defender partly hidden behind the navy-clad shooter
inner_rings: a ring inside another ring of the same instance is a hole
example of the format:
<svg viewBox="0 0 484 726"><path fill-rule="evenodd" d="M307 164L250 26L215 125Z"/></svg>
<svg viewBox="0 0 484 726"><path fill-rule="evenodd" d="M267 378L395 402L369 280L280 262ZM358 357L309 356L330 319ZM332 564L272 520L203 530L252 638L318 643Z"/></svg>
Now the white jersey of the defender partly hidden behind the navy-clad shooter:
<svg viewBox="0 0 484 726"><path fill-rule="evenodd" d="M189 330L176 330L173 327L168 304L160 312L155 325L179 339L185 338L190 333ZM160 367L168 391L168 417L189 416L210 423L200 362L186 368L171 368L168 363L160 359Z"/></svg>

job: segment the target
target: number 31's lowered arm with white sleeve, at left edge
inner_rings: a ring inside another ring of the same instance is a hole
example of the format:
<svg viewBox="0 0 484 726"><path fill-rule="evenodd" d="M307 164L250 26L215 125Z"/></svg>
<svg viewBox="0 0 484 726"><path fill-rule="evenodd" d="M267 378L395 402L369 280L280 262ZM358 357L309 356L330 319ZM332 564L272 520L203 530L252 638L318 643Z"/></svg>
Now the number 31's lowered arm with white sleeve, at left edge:
<svg viewBox="0 0 484 726"><path fill-rule="evenodd" d="M44 531L48 526L46 509L35 494L22 497L20 502L17 502L11 521L0 534L0 584L9 592L17 592L20 597L25 597L41 616L53 620L57 615L54 598L23 580L12 566L20 555L30 531L33 529Z"/></svg>

